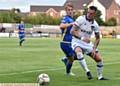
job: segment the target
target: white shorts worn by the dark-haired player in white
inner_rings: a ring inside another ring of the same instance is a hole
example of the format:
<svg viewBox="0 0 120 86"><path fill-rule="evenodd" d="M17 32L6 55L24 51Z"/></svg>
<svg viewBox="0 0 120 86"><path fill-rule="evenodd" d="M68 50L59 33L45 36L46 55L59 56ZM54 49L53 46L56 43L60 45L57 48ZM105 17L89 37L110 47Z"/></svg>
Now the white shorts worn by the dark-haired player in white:
<svg viewBox="0 0 120 86"><path fill-rule="evenodd" d="M82 49L83 53L89 54L93 50L93 43L92 42L86 43L86 42L79 40L77 38L73 38L72 39L73 50L75 50L77 47L80 47ZM98 49L96 49L96 51L98 51Z"/></svg>

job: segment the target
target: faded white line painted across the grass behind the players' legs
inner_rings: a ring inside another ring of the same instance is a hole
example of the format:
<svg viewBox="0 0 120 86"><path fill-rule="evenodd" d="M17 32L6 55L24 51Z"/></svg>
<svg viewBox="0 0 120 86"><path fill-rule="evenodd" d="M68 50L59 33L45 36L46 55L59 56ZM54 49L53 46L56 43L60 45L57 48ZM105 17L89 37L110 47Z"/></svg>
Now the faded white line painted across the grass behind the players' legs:
<svg viewBox="0 0 120 86"><path fill-rule="evenodd" d="M104 65L112 65L112 64L120 64L120 62L104 63ZM89 66L93 66L93 65L89 65ZM79 67L80 66L76 66L73 69L76 69L76 68L79 68ZM23 71L23 72L4 73L4 74L0 74L0 76L4 76L4 75L17 75L17 74L42 72L42 71L56 71L56 70L63 70L63 69L65 69L65 68L64 67L59 67L59 68L38 69L38 70Z"/></svg>

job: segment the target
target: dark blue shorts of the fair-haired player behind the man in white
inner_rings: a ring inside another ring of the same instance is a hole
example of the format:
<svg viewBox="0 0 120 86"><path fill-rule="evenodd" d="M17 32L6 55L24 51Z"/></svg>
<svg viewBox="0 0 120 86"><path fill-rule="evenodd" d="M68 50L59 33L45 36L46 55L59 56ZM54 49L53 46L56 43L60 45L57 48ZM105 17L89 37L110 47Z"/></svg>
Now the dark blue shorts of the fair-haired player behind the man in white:
<svg viewBox="0 0 120 86"><path fill-rule="evenodd" d="M75 56L75 52L73 51L73 49L71 47L71 43L61 42L60 47L61 47L62 51L64 52L64 54L66 55L66 57Z"/></svg>

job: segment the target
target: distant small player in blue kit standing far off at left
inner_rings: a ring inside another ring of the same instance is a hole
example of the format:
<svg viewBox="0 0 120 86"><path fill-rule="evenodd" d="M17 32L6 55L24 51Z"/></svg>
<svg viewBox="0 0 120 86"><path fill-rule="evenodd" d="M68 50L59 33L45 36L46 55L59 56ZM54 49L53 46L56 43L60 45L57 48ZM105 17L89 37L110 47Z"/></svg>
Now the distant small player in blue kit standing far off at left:
<svg viewBox="0 0 120 86"><path fill-rule="evenodd" d="M25 25L23 21L18 25L18 35L19 45L22 46L22 43L25 41Z"/></svg>

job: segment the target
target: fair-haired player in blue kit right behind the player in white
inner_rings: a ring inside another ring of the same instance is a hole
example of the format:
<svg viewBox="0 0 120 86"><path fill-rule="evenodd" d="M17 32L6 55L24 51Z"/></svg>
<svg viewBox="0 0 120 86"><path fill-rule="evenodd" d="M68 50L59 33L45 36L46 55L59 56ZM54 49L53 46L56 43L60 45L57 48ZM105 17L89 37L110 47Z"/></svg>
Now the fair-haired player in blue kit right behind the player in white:
<svg viewBox="0 0 120 86"><path fill-rule="evenodd" d="M71 73L71 67L74 60L74 51L71 47L72 35L70 34L70 30L73 26L73 5L71 3L67 3L65 5L66 16L63 17L60 24L60 29L62 31L63 40L60 42L60 47L67 58L62 59L66 65L66 73L67 75L73 75Z"/></svg>

